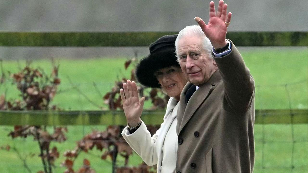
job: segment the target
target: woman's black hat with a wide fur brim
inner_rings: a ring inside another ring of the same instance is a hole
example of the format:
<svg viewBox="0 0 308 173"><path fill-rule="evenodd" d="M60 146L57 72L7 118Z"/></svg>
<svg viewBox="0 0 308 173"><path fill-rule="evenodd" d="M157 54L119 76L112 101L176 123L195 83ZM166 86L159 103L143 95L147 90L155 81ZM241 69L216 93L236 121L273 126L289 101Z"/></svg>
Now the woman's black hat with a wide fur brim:
<svg viewBox="0 0 308 173"><path fill-rule="evenodd" d="M160 88L160 84L154 76L154 73L165 67L180 67L179 63L176 61L176 37L177 34L165 35L150 44L150 54L140 60L136 67L136 77L142 85L151 88Z"/></svg>

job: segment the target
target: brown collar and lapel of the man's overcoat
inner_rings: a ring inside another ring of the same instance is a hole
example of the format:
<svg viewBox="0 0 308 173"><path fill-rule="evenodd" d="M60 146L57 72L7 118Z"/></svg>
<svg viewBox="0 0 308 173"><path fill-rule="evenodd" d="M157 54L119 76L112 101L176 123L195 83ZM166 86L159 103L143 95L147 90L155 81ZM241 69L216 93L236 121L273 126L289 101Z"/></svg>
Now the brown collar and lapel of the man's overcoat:
<svg viewBox="0 0 308 173"><path fill-rule="evenodd" d="M189 99L187 105L185 103L185 94L192 83L187 83L184 87L184 92L181 93L180 98L180 112L183 113L182 121L180 124L179 132L183 129L188 120L192 117L195 111L200 107L200 105L204 102L204 100L211 94L216 85L221 82L221 75L217 70L214 74L209 78L209 80L201 85L199 85L199 89L194 92L194 94ZM179 117L179 115L178 115Z"/></svg>

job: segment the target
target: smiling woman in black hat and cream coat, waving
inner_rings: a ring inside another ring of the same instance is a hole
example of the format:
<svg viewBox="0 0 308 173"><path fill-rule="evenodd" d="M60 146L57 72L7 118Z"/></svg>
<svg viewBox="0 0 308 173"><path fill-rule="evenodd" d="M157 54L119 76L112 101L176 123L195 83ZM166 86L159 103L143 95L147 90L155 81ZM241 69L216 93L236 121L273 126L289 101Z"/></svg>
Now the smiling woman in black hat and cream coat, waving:
<svg viewBox="0 0 308 173"><path fill-rule="evenodd" d="M136 68L136 76L141 84L161 88L170 96L164 122L155 135L150 135L140 119L144 97L139 99L136 83L128 80L123 84L123 90L120 90L128 122L122 135L147 165L157 164L158 173L170 173L176 167L176 112L181 91L187 83L176 61L176 37L177 35L166 35L153 42L149 47L150 55L142 59Z"/></svg>

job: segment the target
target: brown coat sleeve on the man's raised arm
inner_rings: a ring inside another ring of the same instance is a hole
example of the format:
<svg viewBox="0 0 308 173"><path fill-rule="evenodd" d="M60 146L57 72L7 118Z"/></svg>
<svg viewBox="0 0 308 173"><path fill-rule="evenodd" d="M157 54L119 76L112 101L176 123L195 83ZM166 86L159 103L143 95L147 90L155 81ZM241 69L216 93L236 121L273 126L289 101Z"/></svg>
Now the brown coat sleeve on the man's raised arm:
<svg viewBox="0 0 308 173"><path fill-rule="evenodd" d="M230 40L229 40L230 41ZM249 110L254 99L254 79L234 44L232 51L220 58L214 57L225 87L225 103L236 114Z"/></svg>

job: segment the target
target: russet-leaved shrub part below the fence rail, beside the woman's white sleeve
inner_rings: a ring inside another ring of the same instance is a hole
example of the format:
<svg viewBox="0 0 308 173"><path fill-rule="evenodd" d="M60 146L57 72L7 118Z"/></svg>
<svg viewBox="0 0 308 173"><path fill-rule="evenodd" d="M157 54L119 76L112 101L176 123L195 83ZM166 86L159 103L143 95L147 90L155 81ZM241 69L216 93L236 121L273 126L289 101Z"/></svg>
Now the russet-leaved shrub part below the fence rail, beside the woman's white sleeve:
<svg viewBox="0 0 308 173"><path fill-rule="evenodd" d="M149 128L150 132L155 133L159 126L149 126ZM67 157L67 159L62 165L65 167L67 167L67 163L73 165L80 152L88 153L93 148L96 148L97 150L102 151L101 159L106 160L109 158L112 160L112 165L114 166L113 169L116 169L117 173L140 172L136 170L143 170L141 173L152 173L153 171L151 170L155 169L146 166L144 163L139 167L128 167L129 157L133 154L133 150L121 135L123 129L124 126L108 126L105 131L92 131L91 134L88 134L80 141L77 141L77 146L74 150L64 152L64 156ZM118 155L124 158L124 165L120 167L116 165ZM65 173L69 171L74 172L72 168L67 167Z"/></svg>

